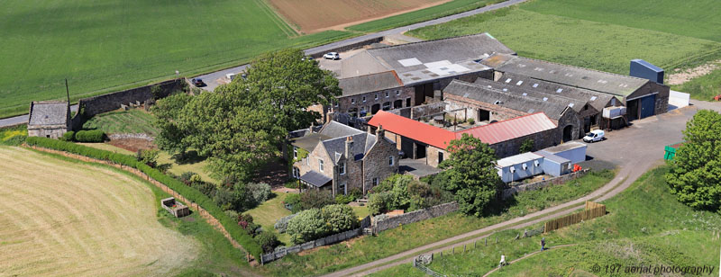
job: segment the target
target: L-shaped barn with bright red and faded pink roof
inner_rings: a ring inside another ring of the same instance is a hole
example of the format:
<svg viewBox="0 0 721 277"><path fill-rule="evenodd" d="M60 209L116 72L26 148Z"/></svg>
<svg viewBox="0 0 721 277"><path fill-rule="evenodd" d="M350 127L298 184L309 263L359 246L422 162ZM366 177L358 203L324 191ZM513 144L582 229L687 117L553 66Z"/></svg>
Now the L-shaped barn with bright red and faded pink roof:
<svg viewBox="0 0 721 277"><path fill-rule="evenodd" d="M426 165L438 166L450 155L445 150L453 139L463 134L480 139L496 150L499 158L518 154L526 139L534 140L534 148L551 147L558 141L558 126L543 112L518 116L465 130L445 130L414 121L392 112L379 112L368 122L372 127L385 129L386 138L398 150L413 159L424 159Z"/></svg>

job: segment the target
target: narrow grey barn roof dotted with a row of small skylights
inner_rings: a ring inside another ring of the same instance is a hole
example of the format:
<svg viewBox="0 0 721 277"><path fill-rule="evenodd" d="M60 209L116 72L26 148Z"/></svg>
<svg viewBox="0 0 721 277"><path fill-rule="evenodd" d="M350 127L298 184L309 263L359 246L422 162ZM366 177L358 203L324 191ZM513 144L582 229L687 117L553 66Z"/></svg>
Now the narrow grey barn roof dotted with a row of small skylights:
<svg viewBox="0 0 721 277"><path fill-rule="evenodd" d="M581 102L589 103L589 105L597 111L603 110L611 99L616 97L612 94L600 93L570 85L555 84L552 82L534 79L529 76L516 75L512 73L504 74L500 79L498 79L497 83L517 86L525 89L526 91L539 91L546 94L561 95L563 97L572 98ZM521 85L518 85L519 83Z"/></svg>

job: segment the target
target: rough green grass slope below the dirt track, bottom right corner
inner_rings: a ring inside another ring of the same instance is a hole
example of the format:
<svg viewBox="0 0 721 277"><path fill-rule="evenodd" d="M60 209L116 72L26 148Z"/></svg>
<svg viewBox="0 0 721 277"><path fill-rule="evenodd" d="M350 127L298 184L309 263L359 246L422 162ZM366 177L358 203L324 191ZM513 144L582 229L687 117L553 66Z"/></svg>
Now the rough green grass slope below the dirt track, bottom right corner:
<svg viewBox="0 0 721 277"><path fill-rule="evenodd" d="M465 254L445 253L443 258L436 255L429 267L443 274L482 275L497 266L500 255L512 261L538 251L541 237L545 237L550 247L577 246L534 255L493 275L584 276L582 274L591 272L594 264L602 267L611 264L718 265L721 215L692 210L676 201L663 179L666 172L667 166L654 169L625 192L603 202L609 212L604 217L518 240L515 239L518 230L499 232L488 238L488 246L470 247ZM377 276L396 273L420 276L413 270L406 264ZM609 275L598 273L598 276Z"/></svg>

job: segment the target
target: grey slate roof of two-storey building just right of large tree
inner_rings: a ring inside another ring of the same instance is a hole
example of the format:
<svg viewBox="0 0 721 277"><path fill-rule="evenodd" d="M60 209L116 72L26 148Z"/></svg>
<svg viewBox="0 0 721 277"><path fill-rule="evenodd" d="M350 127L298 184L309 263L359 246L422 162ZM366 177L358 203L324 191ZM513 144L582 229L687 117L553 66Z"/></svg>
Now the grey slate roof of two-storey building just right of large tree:
<svg viewBox="0 0 721 277"><path fill-rule="evenodd" d="M355 76L338 80L343 96L378 92L403 86L395 71L386 71L364 76Z"/></svg>

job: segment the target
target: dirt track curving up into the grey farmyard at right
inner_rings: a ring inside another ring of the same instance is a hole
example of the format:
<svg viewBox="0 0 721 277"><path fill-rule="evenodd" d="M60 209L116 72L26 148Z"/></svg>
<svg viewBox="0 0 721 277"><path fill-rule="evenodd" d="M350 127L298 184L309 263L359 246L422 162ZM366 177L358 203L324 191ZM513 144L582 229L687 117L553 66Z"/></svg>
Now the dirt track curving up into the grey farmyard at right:
<svg viewBox="0 0 721 277"><path fill-rule="evenodd" d="M597 191L591 192L587 196L546 210L539 210L524 217L510 219L486 228L480 228L456 237L443 239L442 241L438 241L433 244L419 246L397 255L392 255L384 259L379 259L368 264L361 264L335 273L329 273L324 276L363 276L370 273L376 273L398 264L412 263L413 257L406 258L408 255L417 255L419 253L439 253L441 251L450 250L452 247L462 247L463 245L472 244L474 241L490 236L490 234L488 234L481 237L475 237L480 234L510 228L527 228L534 224L558 218L560 216L570 214L575 210L581 209L583 208L585 201L607 200L616 194L623 192L631 185L631 183L634 183L641 174L656 165L661 165L663 147L679 142L682 139L680 130L685 128L686 121L688 121L689 118L698 111L698 109L712 109L721 112L721 103L698 101L691 101L691 103L693 105L689 107L663 113L640 121L634 121L634 124L629 128L607 132L607 140L589 144L587 151L588 156L591 156L594 159L609 161L619 166L620 170L611 182L599 188ZM536 217L541 218L534 219ZM521 223L528 219L534 220ZM451 246L441 247L455 241L460 242Z"/></svg>

